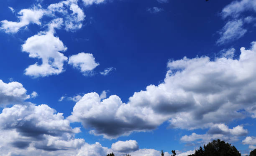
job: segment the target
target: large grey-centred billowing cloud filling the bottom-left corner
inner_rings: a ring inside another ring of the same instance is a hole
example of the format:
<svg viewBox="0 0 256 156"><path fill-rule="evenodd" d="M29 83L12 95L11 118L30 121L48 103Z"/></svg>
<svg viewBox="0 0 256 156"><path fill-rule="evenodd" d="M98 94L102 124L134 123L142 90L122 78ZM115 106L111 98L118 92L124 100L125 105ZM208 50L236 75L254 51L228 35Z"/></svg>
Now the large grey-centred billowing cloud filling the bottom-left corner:
<svg viewBox="0 0 256 156"><path fill-rule="evenodd" d="M58 151L75 150L84 145L84 139L74 139L80 129L72 128L62 113L56 113L45 104L14 105L3 109L0 127L0 138L4 138L0 141L0 149L4 155L10 147L21 151L31 148Z"/></svg>

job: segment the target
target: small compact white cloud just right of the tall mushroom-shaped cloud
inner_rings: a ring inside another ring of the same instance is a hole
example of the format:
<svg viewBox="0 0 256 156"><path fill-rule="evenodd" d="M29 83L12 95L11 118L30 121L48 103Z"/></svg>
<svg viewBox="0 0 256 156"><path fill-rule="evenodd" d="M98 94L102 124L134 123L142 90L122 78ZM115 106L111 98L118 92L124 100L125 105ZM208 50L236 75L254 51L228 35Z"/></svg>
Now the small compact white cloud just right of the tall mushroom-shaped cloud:
<svg viewBox="0 0 256 156"><path fill-rule="evenodd" d="M74 68L79 69L84 76L92 74L92 70L95 69L99 63L95 62L95 58L92 54L81 52L69 57L69 64Z"/></svg>

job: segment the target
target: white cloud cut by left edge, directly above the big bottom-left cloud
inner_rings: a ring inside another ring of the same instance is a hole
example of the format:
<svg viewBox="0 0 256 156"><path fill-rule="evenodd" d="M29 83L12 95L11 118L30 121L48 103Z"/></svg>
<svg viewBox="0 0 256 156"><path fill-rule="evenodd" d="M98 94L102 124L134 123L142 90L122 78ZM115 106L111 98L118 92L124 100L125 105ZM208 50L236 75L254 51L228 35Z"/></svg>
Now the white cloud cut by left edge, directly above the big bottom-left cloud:
<svg viewBox="0 0 256 156"><path fill-rule="evenodd" d="M29 99L27 90L19 82L5 83L0 79L0 106L17 104Z"/></svg>

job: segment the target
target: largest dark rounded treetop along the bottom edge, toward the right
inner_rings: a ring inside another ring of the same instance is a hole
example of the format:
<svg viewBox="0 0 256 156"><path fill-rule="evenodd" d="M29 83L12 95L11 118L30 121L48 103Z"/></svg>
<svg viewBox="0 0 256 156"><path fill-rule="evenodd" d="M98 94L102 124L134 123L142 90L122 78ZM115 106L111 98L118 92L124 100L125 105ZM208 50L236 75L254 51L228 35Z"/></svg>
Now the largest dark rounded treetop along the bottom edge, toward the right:
<svg viewBox="0 0 256 156"><path fill-rule="evenodd" d="M213 140L206 146L204 145L204 149L200 147L195 151L195 154L189 156L241 156L241 154L235 146L218 139Z"/></svg>

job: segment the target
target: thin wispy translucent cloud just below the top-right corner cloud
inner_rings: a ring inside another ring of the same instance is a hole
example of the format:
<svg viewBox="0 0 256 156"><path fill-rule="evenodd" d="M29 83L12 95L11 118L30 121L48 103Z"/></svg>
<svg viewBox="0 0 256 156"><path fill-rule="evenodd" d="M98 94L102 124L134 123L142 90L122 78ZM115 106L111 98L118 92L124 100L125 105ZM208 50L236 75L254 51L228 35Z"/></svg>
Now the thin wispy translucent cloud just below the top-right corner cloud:
<svg viewBox="0 0 256 156"><path fill-rule="evenodd" d="M226 25L219 31L220 38L217 40L218 45L223 45L233 40L238 40L247 32L243 28L243 20L233 20L226 23Z"/></svg>

